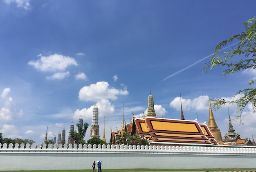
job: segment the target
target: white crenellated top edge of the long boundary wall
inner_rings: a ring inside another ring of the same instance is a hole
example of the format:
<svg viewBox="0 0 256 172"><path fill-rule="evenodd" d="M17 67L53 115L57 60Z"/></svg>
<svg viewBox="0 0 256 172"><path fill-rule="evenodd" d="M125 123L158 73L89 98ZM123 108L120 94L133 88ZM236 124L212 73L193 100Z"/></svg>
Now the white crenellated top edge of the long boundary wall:
<svg viewBox="0 0 256 172"><path fill-rule="evenodd" d="M72 144L38 144L36 145L33 143L30 145L29 143L25 144L18 144L16 143L13 145L10 143L7 145L4 143L3 145L0 144L0 152L14 152L14 151L20 151L25 152L28 150L29 152L33 150L33 152L49 152L50 150L54 152L63 152L63 150L68 151L74 151L76 150L77 152L94 152L94 151L106 151L106 152L115 152L115 151L129 151L129 152L158 152L158 153L167 153L167 152L172 152L172 153L195 153L195 154L200 154L200 153L209 153L209 154L251 154L251 155L256 155L256 147L217 147L217 146L212 146L212 147L203 147L203 146L155 146L155 145L72 145Z"/></svg>

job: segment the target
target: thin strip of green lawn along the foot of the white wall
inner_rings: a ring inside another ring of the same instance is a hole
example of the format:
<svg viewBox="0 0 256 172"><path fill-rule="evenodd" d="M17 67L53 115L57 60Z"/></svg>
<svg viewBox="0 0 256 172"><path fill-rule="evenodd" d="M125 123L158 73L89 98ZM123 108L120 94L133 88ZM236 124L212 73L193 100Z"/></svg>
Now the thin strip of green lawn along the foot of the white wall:
<svg viewBox="0 0 256 172"><path fill-rule="evenodd" d="M0 171L0 172L34 172L33 171ZM172 171L256 171L256 169L102 169L102 172L172 172ZM92 172L92 170L37 170L36 172ZM97 172L97 170L96 170Z"/></svg>

